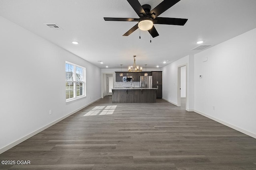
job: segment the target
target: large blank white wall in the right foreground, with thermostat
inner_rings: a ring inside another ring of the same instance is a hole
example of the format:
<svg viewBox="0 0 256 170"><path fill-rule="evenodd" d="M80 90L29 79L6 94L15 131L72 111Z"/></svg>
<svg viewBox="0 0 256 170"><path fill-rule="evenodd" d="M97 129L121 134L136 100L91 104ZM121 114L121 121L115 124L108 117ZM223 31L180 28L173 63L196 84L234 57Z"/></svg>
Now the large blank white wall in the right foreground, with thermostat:
<svg viewBox="0 0 256 170"><path fill-rule="evenodd" d="M255 63L256 29L194 55L195 111L256 138Z"/></svg>

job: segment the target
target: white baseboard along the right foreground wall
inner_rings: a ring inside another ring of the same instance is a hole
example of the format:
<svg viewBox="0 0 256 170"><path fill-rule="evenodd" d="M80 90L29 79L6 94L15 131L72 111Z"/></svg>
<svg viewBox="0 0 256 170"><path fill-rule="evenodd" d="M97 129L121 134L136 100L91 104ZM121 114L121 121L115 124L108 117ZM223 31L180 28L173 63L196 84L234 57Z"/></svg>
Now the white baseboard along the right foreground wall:
<svg viewBox="0 0 256 170"><path fill-rule="evenodd" d="M242 132L242 133L244 133L244 134L246 134L246 135L248 135L248 136L253 137L253 138L256 139L256 134L255 134L255 133L252 133L252 132L250 132L250 131L246 131L246 130L240 128L240 127L237 127L237 126L235 126L235 125L232 125L232 124L230 124L230 123L227 123L227 122L225 122L225 121L222 121L222 120L220 120L220 119L218 119L218 118L216 118L216 117L212 117L212 116L210 116L210 115L207 115L207 114L205 114L205 113L202 113L202 112L200 112L200 111L198 111L198 110L195 110L195 109L194 109L194 112L196 112L196 113L198 113L198 114L200 114L200 115L203 115L203 116L205 116L205 117L208 117L209 119L212 119L212 120L214 120L214 121L217 121L217 122L219 122L219 123L221 123L221 124L223 124L223 125L226 125L226 126L232 128L232 129L235 129L236 131Z"/></svg>

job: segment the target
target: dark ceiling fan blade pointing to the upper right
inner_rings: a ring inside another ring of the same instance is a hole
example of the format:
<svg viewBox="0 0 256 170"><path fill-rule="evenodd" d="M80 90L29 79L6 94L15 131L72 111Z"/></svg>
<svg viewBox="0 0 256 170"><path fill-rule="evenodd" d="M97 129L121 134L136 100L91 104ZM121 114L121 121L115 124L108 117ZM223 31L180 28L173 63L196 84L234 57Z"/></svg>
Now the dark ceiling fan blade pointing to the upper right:
<svg viewBox="0 0 256 170"><path fill-rule="evenodd" d="M163 12L165 12L166 10L174 6L179 1L180 0L164 0L158 6L156 6L156 8L151 10L148 15L151 18L155 19L157 16L159 16L160 14L162 14Z"/></svg>

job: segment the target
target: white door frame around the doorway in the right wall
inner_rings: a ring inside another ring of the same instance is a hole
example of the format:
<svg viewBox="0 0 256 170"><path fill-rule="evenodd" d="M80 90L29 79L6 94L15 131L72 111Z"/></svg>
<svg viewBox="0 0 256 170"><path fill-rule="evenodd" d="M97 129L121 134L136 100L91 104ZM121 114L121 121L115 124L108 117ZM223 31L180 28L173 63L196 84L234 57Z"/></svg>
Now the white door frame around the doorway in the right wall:
<svg viewBox="0 0 256 170"><path fill-rule="evenodd" d="M188 76L188 70L187 70L187 63L185 64L181 64L178 66L178 80L177 80L177 106L181 106L181 84L180 84L180 80L181 80L181 73L180 73L180 68L181 67L186 67L186 106L187 106L187 92L188 92L188 79L187 79L187 76Z"/></svg>

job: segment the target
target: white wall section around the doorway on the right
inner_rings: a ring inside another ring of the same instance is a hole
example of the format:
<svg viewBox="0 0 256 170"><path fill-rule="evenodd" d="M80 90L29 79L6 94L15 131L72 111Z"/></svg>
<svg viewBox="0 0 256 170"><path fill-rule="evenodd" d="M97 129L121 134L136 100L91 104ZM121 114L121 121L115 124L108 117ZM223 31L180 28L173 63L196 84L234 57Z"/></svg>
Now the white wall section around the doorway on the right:
<svg viewBox="0 0 256 170"><path fill-rule="evenodd" d="M188 55L162 68L163 99L177 105L178 103L178 66L187 65L186 110L194 109L194 56Z"/></svg>

